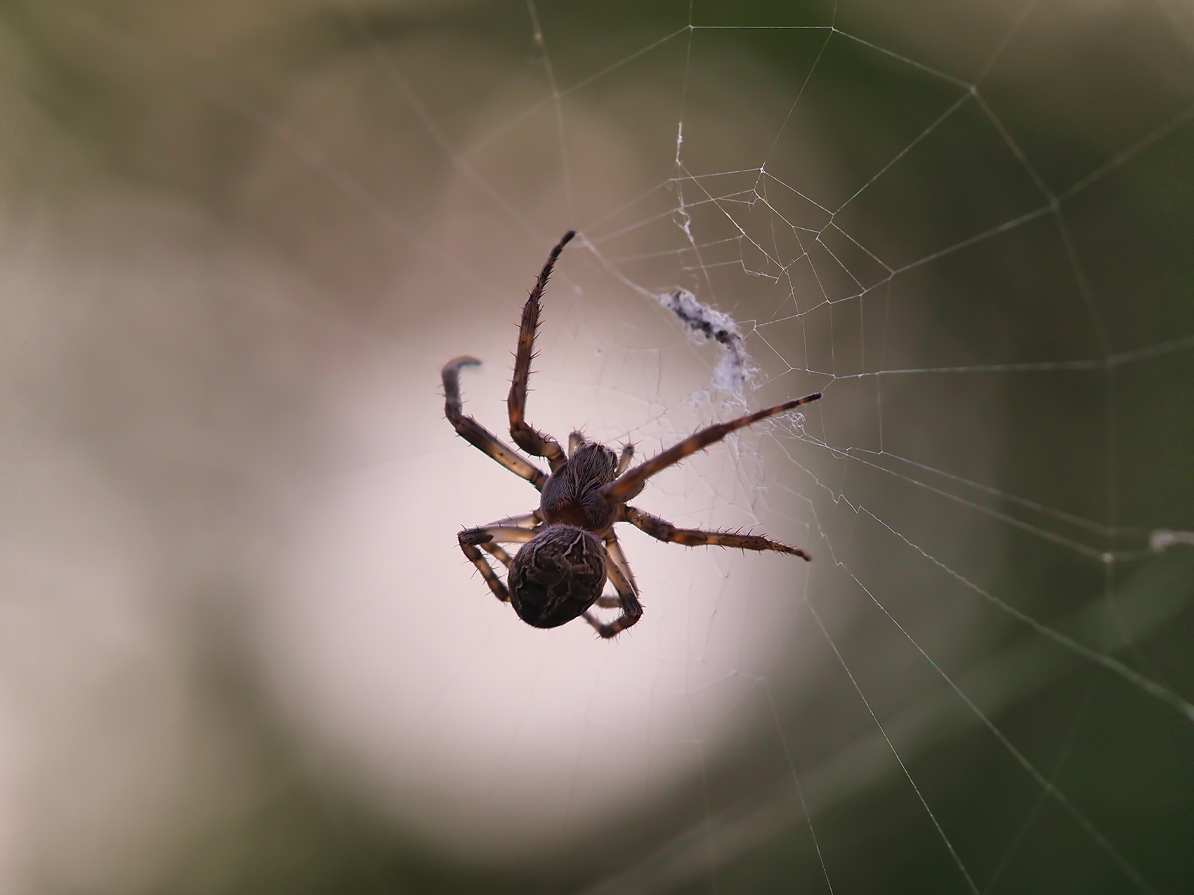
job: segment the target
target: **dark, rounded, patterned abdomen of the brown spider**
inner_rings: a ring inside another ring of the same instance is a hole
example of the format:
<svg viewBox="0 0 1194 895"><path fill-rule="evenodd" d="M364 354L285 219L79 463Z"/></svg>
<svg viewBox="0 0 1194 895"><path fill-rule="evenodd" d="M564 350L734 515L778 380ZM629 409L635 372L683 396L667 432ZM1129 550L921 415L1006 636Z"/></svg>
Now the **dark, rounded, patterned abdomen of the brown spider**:
<svg viewBox="0 0 1194 895"><path fill-rule="evenodd" d="M605 586L605 548L590 531L552 525L523 544L510 564L510 603L533 628L571 622Z"/></svg>

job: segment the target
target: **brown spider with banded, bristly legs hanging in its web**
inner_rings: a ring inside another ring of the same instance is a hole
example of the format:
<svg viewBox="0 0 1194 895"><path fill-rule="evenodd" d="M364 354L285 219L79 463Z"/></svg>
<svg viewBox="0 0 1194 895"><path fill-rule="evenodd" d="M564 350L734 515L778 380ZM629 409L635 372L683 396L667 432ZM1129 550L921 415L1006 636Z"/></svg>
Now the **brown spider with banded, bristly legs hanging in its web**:
<svg viewBox="0 0 1194 895"><path fill-rule="evenodd" d="M550 436L527 422L524 412L535 333L538 329L540 298L560 252L574 235L574 230L568 230L552 249L523 305L515 375L506 401L510 409L510 437L527 453L546 458L550 474L543 473L498 440L475 419L464 415L460 397L460 370L462 366L479 365L481 362L476 358L457 357L444 364L444 415L466 442L525 479L542 494L537 510L478 529L464 529L456 536L460 549L476 566L493 595L503 603L512 604L518 617L534 628L556 628L584 616L602 637L609 638L642 617L639 587L614 533L615 523L629 523L653 538L675 544L775 550L806 561L811 558L804 550L758 535L677 529L670 521L645 513L627 501L638 496L647 479L684 457L720 442L736 430L816 401L820 393L702 428L633 469L629 468L634 457L633 445L624 445L621 453L615 455L605 445L587 440L581 432L568 436L568 452L565 453ZM511 558L500 544L522 544L522 548ZM505 566L506 582L498 578L482 550ZM614 584L617 597L602 595L607 579ZM595 605L620 609L621 615L603 624L590 611Z"/></svg>

